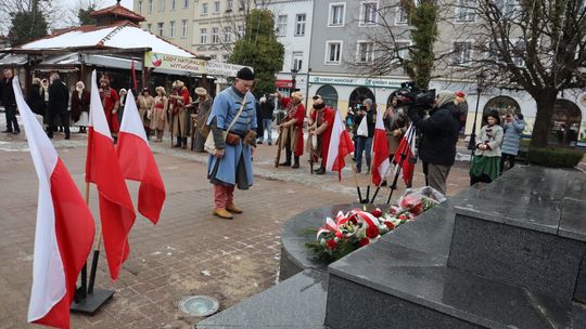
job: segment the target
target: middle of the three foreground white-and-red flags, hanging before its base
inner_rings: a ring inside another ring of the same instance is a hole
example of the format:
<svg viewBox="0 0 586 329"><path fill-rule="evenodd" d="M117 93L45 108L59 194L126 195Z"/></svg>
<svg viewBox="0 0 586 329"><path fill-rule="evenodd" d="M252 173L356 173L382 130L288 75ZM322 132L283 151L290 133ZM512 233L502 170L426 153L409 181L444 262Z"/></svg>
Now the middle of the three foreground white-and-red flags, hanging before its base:
<svg viewBox="0 0 586 329"><path fill-rule="evenodd" d="M107 266L110 276L116 280L122 264L128 258L128 234L135 224L136 214L118 164L95 81L94 70L91 74L86 182L98 186Z"/></svg>

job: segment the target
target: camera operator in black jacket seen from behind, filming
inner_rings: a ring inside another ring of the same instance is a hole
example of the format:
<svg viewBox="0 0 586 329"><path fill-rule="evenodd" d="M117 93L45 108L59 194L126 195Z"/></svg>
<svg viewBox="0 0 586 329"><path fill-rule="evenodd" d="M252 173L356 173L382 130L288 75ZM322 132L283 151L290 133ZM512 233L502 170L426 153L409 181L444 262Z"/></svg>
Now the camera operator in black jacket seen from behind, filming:
<svg viewBox="0 0 586 329"><path fill-rule="evenodd" d="M460 111L451 91L441 91L430 117L423 119L418 108L409 108L408 116L421 132L419 157L423 162L426 184L446 194L446 180L456 158L456 143L460 131Z"/></svg>

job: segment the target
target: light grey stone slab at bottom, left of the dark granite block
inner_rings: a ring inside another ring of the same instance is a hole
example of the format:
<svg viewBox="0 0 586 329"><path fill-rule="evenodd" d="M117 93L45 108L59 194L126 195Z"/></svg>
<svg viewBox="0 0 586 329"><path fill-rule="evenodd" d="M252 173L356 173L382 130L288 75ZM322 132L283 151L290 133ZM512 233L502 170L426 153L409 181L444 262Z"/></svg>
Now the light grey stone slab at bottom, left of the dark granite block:
<svg viewBox="0 0 586 329"><path fill-rule="evenodd" d="M198 329L326 329L328 274L305 269L196 325Z"/></svg>

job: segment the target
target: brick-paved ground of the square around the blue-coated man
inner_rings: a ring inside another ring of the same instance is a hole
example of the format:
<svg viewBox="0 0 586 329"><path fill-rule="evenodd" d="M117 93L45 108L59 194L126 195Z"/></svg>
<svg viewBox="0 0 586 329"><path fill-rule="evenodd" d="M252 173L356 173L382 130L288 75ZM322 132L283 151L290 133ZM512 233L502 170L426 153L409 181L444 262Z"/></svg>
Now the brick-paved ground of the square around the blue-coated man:
<svg viewBox="0 0 586 329"><path fill-rule="evenodd" d="M86 135L73 133L65 141L56 133L53 143L84 190ZM211 214L207 156L171 149L169 144L168 140L152 144L167 188L160 223L153 226L138 215L130 235L130 258L117 282L110 280L102 253L97 287L115 290L114 299L94 316L73 315L72 328L193 328L200 318L178 310L181 299L208 294L226 308L271 287L278 277L283 222L308 208L357 198L349 170L339 183L336 173L310 175L307 162L300 169L276 169L277 149L265 144L255 155L255 185L235 193L244 213L233 221L220 220ZM24 132L0 134L0 328L28 328L38 182ZM468 166L459 161L453 168L449 195L468 186ZM357 180L365 188L369 176L359 174ZM413 185L422 182L418 168ZM128 185L136 205L138 184ZM398 185L394 197L402 193L404 184ZM388 188L383 189L378 202L387 195ZM92 187L90 207L95 216L97 205Z"/></svg>

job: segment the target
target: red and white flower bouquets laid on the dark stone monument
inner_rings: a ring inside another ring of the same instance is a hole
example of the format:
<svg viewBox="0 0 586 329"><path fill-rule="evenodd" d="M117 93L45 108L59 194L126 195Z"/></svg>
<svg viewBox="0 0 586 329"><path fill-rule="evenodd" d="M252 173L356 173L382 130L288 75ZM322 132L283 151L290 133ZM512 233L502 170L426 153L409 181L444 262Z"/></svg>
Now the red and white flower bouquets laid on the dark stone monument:
<svg viewBox="0 0 586 329"><path fill-rule="evenodd" d="M317 229L316 240L307 242L306 247L319 261L336 261L397 226L416 220L445 199L441 193L425 186L407 189L398 206L392 206L384 212L380 208L367 211L366 206L347 213L340 211L335 219L326 218L326 225Z"/></svg>

